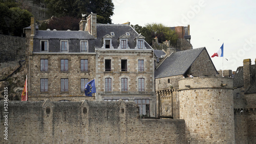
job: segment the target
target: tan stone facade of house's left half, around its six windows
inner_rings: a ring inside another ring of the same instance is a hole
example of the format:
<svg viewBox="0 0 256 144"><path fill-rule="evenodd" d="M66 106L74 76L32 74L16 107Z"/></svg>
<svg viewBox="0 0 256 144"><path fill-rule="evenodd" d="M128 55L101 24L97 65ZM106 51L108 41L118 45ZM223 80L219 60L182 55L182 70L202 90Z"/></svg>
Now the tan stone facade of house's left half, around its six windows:
<svg viewBox="0 0 256 144"><path fill-rule="evenodd" d="M40 59L48 59L48 71L40 70ZM60 59L68 59L68 71L60 70ZM88 59L88 71L81 71L80 59ZM34 54L30 65L33 75L28 80L29 101L47 98L57 101L61 97L62 100L80 101L88 98L81 91L81 79L87 78L89 82L95 78L94 54ZM63 78L68 79L68 92L60 91L60 79ZM40 92L40 79L48 79L48 92Z"/></svg>

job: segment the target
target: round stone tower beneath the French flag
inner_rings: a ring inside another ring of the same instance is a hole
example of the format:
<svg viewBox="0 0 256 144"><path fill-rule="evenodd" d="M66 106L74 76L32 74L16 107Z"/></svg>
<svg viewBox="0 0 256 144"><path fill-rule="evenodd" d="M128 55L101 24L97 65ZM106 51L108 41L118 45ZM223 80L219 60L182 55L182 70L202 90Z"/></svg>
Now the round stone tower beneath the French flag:
<svg viewBox="0 0 256 144"><path fill-rule="evenodd" d="M233 79L185 78L179 81L180 119L187 143L235 143Z"/></svg>

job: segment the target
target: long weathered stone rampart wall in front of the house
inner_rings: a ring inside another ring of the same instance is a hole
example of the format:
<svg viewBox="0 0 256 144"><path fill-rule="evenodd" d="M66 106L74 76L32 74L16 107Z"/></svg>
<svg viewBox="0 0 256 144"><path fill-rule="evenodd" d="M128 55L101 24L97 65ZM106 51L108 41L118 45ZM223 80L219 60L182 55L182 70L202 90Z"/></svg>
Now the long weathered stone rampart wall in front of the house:
<svg viewBox="0 0 256 144"><path fill-rule="evenodd" d="M140 119L133 102L13 101L8 126L0 109L6 143L185 143L183 119Z"/></svg>

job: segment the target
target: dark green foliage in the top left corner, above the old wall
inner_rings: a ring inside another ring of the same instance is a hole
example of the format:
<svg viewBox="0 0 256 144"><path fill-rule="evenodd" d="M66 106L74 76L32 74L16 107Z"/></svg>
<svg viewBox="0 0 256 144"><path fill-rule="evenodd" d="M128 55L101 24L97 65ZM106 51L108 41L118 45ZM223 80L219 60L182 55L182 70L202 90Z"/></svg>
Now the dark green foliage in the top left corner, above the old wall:
<svg viewBox="0 0 256 144"><path fill-rule="evenodd" d="M3 3L0 3L0 34L22 36L23 28L30 26L30 17L33 15L16 7L17 3L14 5L12 1L1 2Z"/></svg>

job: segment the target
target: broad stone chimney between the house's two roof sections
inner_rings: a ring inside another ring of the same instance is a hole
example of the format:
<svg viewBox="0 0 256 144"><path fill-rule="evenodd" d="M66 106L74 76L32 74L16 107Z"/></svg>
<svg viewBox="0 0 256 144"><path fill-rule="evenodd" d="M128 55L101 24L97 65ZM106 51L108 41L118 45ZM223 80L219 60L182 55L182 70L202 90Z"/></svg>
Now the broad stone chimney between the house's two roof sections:
<svg viewBox="0 0 256 144"><path fill-rule="evenodd" d="M88 31L93 37L97 38L97 14L91 13L87 17L87 25L84 31Z"/></svg>

